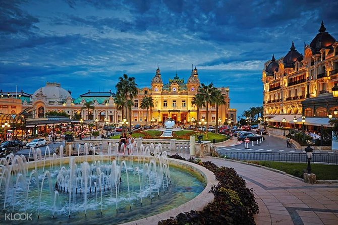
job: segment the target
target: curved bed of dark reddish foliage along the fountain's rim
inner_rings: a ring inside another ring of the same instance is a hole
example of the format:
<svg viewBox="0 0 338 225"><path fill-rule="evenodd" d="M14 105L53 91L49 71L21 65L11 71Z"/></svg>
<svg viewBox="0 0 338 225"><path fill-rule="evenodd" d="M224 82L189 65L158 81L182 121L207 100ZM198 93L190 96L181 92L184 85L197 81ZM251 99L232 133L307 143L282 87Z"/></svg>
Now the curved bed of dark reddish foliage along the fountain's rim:
<svg viewBox="0 0 338 225"><path fill-rule="evenodd" d="M178 154L169 157L186 160ZM246 182L234 168L218 167L210 161L202 162L192 157L188 161L202 165L215 174L219 183L211 188L214 201L202 211L180 213L175 218L159 221L158 224L255 224L253 215L259 210L253 189L246 187Z"/></svg>

